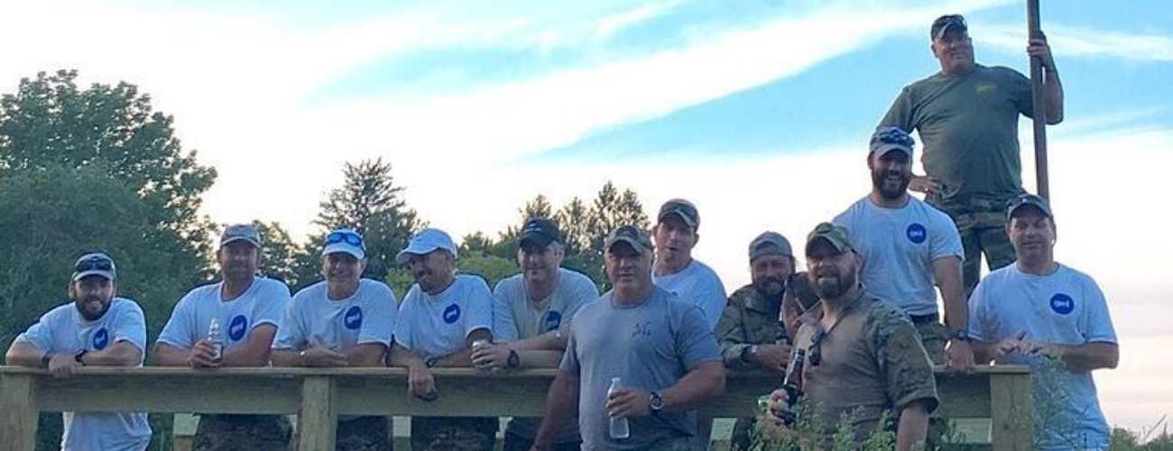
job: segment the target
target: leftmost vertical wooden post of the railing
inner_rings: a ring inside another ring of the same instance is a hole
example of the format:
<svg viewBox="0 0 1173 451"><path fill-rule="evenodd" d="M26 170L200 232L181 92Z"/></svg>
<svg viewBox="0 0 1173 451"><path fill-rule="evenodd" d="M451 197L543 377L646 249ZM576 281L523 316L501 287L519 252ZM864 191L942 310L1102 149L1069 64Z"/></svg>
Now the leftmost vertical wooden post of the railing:
<svg viewBox="0 0 1173 451"><path fill-rule="evenodd" d="M33 375L0 375L0 437L6 450L35 450L35 399L36 380Z"/></svg>

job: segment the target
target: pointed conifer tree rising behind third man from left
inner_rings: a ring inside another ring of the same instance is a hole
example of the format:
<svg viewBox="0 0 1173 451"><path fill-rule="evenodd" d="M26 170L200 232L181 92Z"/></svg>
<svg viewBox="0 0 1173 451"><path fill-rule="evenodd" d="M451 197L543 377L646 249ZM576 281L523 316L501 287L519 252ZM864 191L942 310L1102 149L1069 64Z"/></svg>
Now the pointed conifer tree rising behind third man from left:
<svg viewBox="0 0 1173 451"><path fill-rule="evenodd" d="M311 235L303 247L297 272L300 286L318 280L321 244L332 228L351 227L362 233L367 248L366 274L382 276L395 266L395 254L412 234L425 226L415 210L407 206L404 187L395 185L391 163L382 158L347 163L343 173L343 185L332 190L319 205L314 220L319 233Z"/></svg>

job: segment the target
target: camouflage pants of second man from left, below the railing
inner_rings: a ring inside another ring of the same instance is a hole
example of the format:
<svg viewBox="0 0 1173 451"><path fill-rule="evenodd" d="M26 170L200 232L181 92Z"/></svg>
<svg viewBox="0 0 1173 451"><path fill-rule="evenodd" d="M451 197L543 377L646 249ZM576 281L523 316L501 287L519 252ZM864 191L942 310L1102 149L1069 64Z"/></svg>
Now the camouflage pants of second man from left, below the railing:
<svg viewBox="0 0 1173 451"><path fill-rule="evenodd" d="M202 415L192 451L282 451L289 449L290 422L278 415Z"/></svg>

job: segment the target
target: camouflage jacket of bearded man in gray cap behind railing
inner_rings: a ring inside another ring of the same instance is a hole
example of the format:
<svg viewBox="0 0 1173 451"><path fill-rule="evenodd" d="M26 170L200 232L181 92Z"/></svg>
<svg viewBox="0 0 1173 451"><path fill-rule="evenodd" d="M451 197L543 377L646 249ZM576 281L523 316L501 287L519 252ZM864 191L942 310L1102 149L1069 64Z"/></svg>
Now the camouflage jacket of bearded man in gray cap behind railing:
<svg viewBox="0 0 1173 451"><path fill-rule="evenodd" d="M730 295L716 332L726 367L751 368L753 365L741 358L746 348L786 340L786 330L778 321L781 307L781 299L768 300L753 285Z"/></svg>

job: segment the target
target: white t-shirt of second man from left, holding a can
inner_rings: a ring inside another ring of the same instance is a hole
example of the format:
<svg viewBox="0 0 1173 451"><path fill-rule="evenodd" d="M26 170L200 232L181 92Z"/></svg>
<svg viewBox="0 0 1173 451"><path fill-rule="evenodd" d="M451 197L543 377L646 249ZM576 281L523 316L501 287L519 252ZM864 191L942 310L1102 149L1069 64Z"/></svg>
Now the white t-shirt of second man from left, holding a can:
<svg viewBox="0 0 1173 451"><path fill-rule="evenodd" d="M290 288L279 281L253 278L252 285L231 301L221 298L223 281L196 287L175 305L171 319L158 335L160 343L191 349L208 337L212 317L221 323L224 350L244 344L257 326L272 324L280 330L282 315L290 301Z"/></svg>

